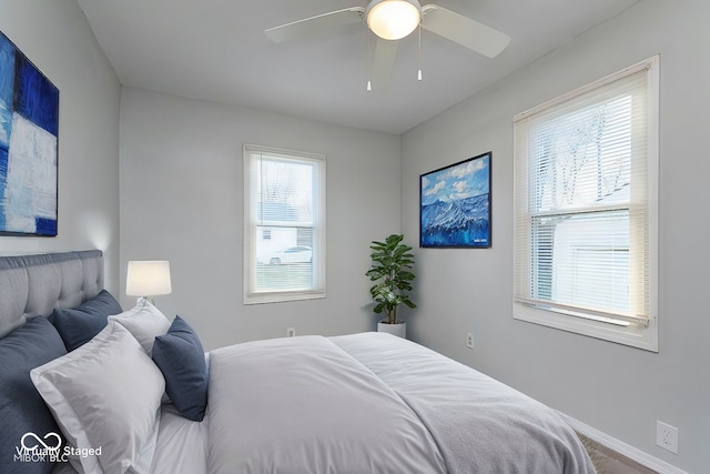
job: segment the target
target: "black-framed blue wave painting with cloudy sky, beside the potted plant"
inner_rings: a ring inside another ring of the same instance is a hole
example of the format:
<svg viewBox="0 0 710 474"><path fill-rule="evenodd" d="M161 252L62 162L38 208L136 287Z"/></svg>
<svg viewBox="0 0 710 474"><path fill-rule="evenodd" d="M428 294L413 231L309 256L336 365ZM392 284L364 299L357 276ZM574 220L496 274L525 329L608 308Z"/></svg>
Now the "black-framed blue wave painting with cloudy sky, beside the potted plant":
<svg viewBox="0 0 710 474"><path fill-rule="evenodd" d="M490 246L493 152L419 177L419 245Z"/></svg>

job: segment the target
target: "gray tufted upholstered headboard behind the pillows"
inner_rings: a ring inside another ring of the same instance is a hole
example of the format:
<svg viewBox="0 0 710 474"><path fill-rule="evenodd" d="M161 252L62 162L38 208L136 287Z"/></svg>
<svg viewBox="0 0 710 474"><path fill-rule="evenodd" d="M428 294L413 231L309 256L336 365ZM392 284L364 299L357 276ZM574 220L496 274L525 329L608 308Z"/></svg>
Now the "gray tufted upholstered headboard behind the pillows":
<svg viewBox="0 0 710 474"><path fill-rule="evenodd" d="M103 289L100 250L0 256L0 337L54 307L74 307Z"/></svg>

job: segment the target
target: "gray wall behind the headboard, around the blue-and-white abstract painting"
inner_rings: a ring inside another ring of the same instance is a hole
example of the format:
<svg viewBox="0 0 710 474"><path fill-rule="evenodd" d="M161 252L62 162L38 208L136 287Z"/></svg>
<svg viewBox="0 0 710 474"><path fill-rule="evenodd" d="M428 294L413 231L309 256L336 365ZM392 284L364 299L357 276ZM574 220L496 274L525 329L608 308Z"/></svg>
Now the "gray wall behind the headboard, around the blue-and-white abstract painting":
<svg viewBox="0 0 710 474"><path fill-rule="evenodd" d="M59 235L0 236L0 252L100 249L118 292L121 85L74 1L0 1L0 30L60 91Z"/></svg>

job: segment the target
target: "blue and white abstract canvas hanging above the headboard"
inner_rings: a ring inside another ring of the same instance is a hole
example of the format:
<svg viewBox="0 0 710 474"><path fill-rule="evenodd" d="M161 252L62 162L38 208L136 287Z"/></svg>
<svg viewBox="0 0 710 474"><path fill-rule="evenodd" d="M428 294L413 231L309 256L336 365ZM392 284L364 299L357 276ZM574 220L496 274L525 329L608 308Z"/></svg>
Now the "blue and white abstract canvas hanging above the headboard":
<svg viewBox="0 0 710 474"><path fill-rule="evenodd" d="M0 32L0 234L57 235L59 89Z"/></svg>

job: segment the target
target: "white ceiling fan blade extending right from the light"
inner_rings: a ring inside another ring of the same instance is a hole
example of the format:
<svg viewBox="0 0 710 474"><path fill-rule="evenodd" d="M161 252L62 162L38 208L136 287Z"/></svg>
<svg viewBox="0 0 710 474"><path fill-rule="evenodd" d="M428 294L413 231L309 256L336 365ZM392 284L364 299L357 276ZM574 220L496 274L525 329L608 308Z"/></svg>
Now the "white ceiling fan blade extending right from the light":
<svg viewBox="0 0 710 474"><path fill-rule="evenodd" d="M488 58L498 56L510 37L436 4L422 7L422 28Z"/></svg>

